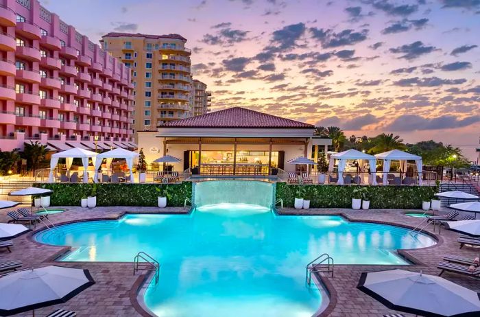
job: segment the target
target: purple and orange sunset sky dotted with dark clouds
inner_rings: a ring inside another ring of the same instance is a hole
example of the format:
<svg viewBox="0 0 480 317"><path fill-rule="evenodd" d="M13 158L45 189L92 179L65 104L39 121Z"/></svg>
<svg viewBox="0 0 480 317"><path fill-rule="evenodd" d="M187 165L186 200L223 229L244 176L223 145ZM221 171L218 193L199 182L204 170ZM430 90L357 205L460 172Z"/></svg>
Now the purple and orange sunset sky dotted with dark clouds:
<svg viewBox="0 0 480 317"><path fill-rule="evenodd" d="M212 110L244 106L347 136L434 139L470 158L479 145L480 0L41 3L92 40L181 34Z"/></svg>

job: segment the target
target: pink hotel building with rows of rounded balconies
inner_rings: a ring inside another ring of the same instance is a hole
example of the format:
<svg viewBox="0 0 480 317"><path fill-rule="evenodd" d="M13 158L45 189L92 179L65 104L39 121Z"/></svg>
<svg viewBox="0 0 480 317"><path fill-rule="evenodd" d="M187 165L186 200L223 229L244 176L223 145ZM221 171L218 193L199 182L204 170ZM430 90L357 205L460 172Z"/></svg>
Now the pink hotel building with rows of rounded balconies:
<svg viewBox="0 0 480 317"><path fill-rule="evenodd" d="M133 86L120 60L38 0L0 0L0 28L1 150L132 141Z"/></svg>

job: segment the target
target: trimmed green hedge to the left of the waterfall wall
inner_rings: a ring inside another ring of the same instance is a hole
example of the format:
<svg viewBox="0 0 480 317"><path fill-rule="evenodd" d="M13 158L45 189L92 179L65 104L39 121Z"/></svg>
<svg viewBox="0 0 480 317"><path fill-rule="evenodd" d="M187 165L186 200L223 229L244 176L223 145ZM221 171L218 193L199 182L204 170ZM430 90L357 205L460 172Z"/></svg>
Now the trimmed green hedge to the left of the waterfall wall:
<svg viewBox="0 0 480 317"><path fill-rule="evenodd" d="M157 197L167 196L167 206L183 206L191 198L192 183L181 184L35 184L53 190L52 206L80 206L82 197L97 190L97 206L158 206ZM157 189L160 190L157 191Z"/></svg>

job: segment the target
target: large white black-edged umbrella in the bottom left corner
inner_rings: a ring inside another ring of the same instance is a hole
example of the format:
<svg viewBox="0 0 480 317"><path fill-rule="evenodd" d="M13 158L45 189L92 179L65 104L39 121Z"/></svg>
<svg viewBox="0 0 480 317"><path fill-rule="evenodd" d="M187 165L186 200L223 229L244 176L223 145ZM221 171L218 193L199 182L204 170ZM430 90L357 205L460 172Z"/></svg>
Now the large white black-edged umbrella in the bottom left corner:
<svg viewBox="0 0 480 317"><path fill-rule="evenodd" d="M93 284L90 272L78 268L45 266L13 272L0 279L0 315L65 303Z"/></svg>

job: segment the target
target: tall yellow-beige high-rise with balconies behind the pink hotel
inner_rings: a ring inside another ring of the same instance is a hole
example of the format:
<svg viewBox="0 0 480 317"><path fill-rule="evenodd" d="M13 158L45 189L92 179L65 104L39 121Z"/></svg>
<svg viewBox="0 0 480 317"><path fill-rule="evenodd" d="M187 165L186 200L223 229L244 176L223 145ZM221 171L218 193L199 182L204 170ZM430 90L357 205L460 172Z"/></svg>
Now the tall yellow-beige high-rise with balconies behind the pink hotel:
<svg viewBox="0 0 480 317"><path fill-rule="evenodd" d="M178 34L108 33L103 48L132 71L134 131L193 116L191 50Z"/></svg>

